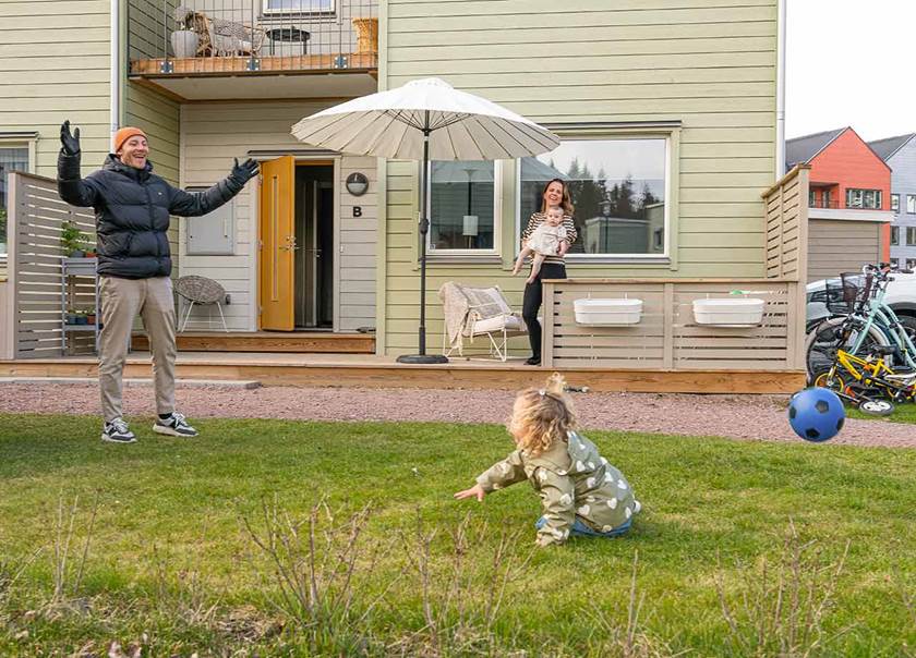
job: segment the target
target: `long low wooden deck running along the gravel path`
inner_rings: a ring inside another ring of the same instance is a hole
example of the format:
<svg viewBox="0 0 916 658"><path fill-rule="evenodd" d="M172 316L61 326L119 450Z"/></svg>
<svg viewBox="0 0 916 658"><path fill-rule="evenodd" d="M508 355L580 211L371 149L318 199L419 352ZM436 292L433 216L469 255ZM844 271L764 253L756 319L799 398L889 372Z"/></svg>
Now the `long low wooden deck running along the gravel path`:
<svg viewBox="0 0 916 658"><path fill-rule="evenodd" d="M369 354L265 354L181 352L180 379L257 380L264 386L517 390L540 386L554 369L594 391L659 393L793 393L805 386L800 370L627 370L534 368L521 360L501 363L453 360L444 365L405 365ZM94 357L0 361L0 377L96 377ZM152 376L149 355L134 352L124 377Z"/></svg>

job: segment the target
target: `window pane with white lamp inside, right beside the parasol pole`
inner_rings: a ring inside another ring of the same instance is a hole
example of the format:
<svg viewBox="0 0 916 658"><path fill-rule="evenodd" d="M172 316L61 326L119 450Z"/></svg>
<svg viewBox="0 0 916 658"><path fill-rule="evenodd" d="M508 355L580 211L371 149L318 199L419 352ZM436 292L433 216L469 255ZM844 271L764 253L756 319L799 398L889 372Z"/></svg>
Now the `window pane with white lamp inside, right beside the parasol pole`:
<svg viewBox="0 0 916 658"><path fill-rule="evenodd" d="M431 163L431 252L495 249L495 175L496 168L493 162Z"/></svg>

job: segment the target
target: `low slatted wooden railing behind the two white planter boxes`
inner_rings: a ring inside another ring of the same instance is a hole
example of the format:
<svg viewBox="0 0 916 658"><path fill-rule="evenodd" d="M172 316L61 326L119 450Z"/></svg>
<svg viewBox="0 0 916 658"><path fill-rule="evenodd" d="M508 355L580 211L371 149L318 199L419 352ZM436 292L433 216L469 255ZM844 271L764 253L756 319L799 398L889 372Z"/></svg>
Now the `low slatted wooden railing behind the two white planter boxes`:
<svg viewBox="0 0 916 658"><path fill-rule="evenodd" d="M732 291L748 291L734 295ZM786 370L798 366L794 281L567 280L544 284L544 361L553 367ZM694 301L748 296L766 302L759 326L698 325ZM637 325L594 327L576 321L581 298L639 298ZM804 322L803 322L804 324Z"/></svg>

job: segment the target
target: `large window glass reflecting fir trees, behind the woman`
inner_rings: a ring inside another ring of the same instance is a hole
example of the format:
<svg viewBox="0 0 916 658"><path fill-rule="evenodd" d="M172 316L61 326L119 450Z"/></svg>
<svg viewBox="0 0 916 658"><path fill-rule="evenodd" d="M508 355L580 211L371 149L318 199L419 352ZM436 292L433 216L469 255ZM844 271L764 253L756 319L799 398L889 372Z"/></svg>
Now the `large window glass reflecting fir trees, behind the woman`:
<svg viewBox="0 0 916 658"><path fill-rule="evenodd" d="M556 150L522 158L521 229L541 209L551 179L563 179L576 207L570 254L651 256L666 253L667 139L564 139Z"/></svg>

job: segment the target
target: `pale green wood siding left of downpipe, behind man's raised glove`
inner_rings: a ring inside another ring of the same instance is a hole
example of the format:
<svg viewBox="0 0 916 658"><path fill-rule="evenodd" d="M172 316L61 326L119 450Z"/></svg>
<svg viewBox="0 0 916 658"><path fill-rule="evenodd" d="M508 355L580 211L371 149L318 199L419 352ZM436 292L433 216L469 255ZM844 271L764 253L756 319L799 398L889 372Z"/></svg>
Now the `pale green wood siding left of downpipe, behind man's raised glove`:
<svg viewBox="0 0 916 658"><path fill-rule="evenodd" d="M3 0L0 25L0 133L38 132L34 171L55 178L70 119L83 172L97 169L109 145L108 0Z"/></svg>

